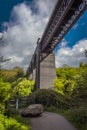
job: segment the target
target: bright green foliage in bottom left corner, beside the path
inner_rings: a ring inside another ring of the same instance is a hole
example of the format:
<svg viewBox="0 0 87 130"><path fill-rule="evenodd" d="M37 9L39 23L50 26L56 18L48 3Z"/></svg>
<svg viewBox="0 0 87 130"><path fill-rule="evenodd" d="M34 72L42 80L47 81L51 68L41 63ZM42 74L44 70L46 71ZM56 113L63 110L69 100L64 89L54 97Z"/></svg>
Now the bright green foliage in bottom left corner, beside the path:
<svg viewBox="0 0 87 130"><path fill-rule="evenodd" d="M0 129L1 130L29 130L29 128L13 118L7 118L0 114Z"/></svg>

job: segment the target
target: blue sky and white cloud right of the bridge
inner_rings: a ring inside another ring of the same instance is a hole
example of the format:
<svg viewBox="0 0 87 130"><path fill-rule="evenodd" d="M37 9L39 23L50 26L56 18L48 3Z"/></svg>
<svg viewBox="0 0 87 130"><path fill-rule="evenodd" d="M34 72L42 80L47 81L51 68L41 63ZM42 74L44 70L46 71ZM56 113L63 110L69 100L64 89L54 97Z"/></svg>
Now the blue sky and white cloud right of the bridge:
<svg viewBox="0 0 87 130"><path fill-rule="evenodd" d="M87 63L87 59L84 57L85 49L87 49L87 11L82 14L55 48L56 66L61 67L68 64L77 67L80 62Z"/></svg>

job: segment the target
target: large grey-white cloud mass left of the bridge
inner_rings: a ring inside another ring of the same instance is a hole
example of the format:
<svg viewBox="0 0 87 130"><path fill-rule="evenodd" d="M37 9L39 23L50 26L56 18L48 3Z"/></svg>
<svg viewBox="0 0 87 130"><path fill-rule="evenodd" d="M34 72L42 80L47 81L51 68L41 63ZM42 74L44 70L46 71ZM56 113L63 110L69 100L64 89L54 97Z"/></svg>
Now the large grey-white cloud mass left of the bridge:
<svg viewBox="0 0 87 130"><path fill-rule="evenodd" d="M7 30L3 30L4 46L0 44L0 55L11 58L9 62L3 63L3 67L28 67L37 39L42 36L56 1L35 1L37 12L25 3L13 8L9 22L3 23Z"/></svg>

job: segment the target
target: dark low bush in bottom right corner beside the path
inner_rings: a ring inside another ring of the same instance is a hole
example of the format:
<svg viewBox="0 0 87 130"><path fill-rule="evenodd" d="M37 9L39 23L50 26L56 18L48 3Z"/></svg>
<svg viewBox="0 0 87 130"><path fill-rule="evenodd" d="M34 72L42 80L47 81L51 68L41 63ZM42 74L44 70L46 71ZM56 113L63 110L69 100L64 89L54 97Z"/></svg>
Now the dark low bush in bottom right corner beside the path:
<svg viewBox="0 0 87 130"><path fill-rule="evenodd" d="M79 130L87 130L87 108L80 107L65 112L65 116L74 123Z"/></svg>

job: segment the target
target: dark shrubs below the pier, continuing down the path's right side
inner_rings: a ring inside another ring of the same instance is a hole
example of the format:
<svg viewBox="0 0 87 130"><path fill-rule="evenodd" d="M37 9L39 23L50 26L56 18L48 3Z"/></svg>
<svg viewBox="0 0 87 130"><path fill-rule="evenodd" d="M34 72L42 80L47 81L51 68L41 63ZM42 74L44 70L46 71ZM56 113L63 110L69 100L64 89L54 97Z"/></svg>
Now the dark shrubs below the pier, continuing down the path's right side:
<svg viewBox="0 0 87 130"><path fill-rule="evenodd" d="M66 117L78 130L87 130L86 98L67 98L53 90L38 90L29 96L29 104L43 104L46 111Z"/></svg>

